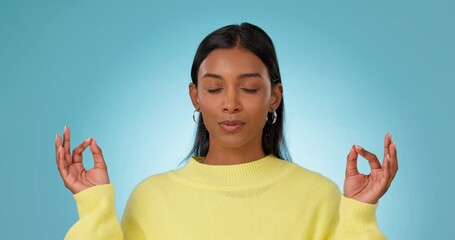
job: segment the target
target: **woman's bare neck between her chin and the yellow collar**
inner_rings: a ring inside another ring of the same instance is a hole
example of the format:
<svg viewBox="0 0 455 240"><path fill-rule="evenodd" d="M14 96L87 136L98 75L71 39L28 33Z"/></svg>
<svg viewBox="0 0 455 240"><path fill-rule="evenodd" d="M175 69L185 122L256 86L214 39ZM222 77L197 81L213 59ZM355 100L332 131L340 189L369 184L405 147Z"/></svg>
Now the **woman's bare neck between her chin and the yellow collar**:
<svg viewBox="0 0 455 240"><path fill-rule="evenodd" d="M223 148L217 145L210 145L207 156L203 163L209 165L234 165L252 162L265 157L262 146L242 147L242 148Z"/></svg>

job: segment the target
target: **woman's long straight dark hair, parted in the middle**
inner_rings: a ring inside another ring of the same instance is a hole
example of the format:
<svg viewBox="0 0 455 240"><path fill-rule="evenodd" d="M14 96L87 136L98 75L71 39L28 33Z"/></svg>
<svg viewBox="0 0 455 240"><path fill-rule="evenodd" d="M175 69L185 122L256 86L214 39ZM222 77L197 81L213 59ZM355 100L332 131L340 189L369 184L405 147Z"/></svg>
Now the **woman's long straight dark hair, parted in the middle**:
<svg viewBox="0 0 455 240"><path fill-rule="evenodd" d="M258 56L267 67L272 87L281 83L280 69L276 57L272 39L261 28L242 23L240 25L228 25L210 33L202 40L191 67L191 80L197 86L198 71L202 61L207 55L218 48L242 47ZM272 125L272 113L268 113L268 120L262 130L262 148L266 155L273 154L281 159L291 161L286 141L284 139L284 101L276 109L277 120ZM209 150L209 133L204 126L202 115L200 115L194 145L190 156L205 157Z"/></svg>

